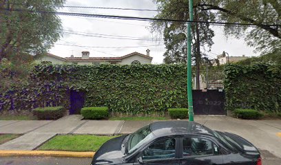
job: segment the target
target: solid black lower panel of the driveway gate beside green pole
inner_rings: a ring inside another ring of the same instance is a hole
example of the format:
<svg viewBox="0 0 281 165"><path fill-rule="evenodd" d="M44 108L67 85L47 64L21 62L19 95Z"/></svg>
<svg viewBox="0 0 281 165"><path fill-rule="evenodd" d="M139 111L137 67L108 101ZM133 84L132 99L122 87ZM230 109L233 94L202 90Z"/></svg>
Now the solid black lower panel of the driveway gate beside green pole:
<svg viewBox="0 0 281 165"><path fill-rule="evenodd" d="M225 91L222 89L193 90L194 114L226 115Z"/></svg>

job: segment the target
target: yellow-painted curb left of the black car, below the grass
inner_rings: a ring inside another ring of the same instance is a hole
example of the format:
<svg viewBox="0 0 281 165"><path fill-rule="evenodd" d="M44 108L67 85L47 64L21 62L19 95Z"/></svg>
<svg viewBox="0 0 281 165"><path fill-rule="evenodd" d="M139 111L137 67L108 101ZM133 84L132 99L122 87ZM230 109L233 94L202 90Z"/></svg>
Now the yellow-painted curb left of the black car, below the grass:
<svg viewBox="0 0 281 165"><path fill-rule="evenodd" d="M6 156L47 156L47 157L93 157L95 152L70 151L0 151L0 157Z"/></svg>

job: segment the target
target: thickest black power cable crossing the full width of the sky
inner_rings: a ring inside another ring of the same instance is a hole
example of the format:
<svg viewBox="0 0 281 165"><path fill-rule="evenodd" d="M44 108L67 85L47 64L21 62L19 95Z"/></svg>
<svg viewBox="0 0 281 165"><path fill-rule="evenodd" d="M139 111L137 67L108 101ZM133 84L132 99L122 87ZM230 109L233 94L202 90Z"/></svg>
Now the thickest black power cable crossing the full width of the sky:
<svg viewBox="0 0 281 165"><path fill-rule="evenodd" d="M7 9L0 9L7 10ZM209 23L214 25L241 25L241 26L263 26L263 27L278 27L279 24L274 25L265 25L265 24L251 24L251 23L224 23L224 22L213 22L213 21L185 21L185 20L176 20L176 19L156 19L148 17L130 17L130 16L118 16L118 15L107 15L107 14L85 14L85 13L75 13L75 12L50 12L50 11L32 11L32 10L20 10L13 9L8 11L16 12L31 12L31 13L42 13L42 14L58 14L66 16L76 16L76 17L98 17L105 19L123 19L123 20L135 20L135 21L160 21L160 22L182 22L182 23Z"/></svg>

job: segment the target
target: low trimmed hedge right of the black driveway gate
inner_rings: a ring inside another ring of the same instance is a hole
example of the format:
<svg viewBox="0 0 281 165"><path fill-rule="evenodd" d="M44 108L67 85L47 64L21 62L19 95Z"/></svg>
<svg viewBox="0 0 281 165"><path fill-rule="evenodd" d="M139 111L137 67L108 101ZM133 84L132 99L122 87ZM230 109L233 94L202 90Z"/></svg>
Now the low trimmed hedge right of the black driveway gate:
<svg viewBox="0 0 281 165"><path fill-rule="evenodd" d="M262 113L255 109L236 109L234 114L242 119L258 119L263 116Z"/></svg>

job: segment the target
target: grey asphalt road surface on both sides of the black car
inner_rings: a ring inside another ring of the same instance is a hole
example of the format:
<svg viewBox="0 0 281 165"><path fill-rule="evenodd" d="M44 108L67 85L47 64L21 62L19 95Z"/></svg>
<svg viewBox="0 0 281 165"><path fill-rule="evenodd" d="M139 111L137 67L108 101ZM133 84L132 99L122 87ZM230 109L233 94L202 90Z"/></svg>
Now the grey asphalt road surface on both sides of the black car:
<svg viewBox="0 0 281 165"><path fill-rule="evenodd" d="M280 165L281 159L262 151L262 165ZM90 165L92 158L73 157L0 157L1 165Z"/></svg>

